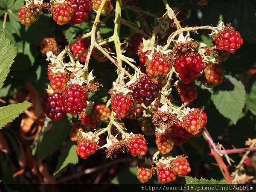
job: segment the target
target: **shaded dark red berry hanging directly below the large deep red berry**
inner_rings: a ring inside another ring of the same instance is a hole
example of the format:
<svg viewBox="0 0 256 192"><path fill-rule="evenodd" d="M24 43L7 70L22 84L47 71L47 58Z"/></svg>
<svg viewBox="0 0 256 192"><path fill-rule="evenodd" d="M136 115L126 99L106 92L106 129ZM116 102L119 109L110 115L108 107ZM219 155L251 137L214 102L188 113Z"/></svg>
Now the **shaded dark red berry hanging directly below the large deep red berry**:
<svg viewBox="0 0 256 192"><path fill-rule="evenodd" d="M192 102L197 99L198 91L194 81L189 84L184 84L182 81L179 81L177 91L182 102Z"/></svg>

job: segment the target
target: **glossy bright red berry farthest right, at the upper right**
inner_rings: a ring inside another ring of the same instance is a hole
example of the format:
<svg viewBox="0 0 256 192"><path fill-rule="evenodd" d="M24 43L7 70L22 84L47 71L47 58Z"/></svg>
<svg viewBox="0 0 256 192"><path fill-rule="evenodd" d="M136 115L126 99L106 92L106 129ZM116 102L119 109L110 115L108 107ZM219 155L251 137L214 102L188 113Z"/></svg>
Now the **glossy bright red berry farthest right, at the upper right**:
<svg viewBox="0 0 256 192"><path fill-rule="evenodd" d="M215 38L218 49L234 53L244 43L238 31L224 31Z"/></svg>

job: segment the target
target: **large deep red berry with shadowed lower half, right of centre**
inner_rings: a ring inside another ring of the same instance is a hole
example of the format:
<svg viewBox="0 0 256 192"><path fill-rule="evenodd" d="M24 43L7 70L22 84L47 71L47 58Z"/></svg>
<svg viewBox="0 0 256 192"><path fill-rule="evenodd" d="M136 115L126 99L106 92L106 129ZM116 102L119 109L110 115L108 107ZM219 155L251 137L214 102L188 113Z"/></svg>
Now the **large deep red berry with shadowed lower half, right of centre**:
<svg viewBox="0 0 256 192"><path fill-rule="evenodd" d="M194 52L184 53L175 60L175 71L179 73L179 77L184 84L195 81L195 76L203 69L203 58Z"/></svg>

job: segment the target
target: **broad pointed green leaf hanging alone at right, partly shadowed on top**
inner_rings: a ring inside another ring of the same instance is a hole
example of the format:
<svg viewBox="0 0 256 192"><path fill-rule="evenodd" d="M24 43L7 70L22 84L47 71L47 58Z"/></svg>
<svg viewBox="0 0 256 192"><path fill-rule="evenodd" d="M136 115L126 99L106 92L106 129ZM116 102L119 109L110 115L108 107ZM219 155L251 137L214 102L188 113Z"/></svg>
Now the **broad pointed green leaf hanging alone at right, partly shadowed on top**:
<svg viewBox="0 0 256 192"><path fill-rule="evenodd" d="M211 99L218 111L236 124L238 119L243 116L245 89L241 81L232 76L225 77L222 84L210 90L212 92Z"/></svg>

